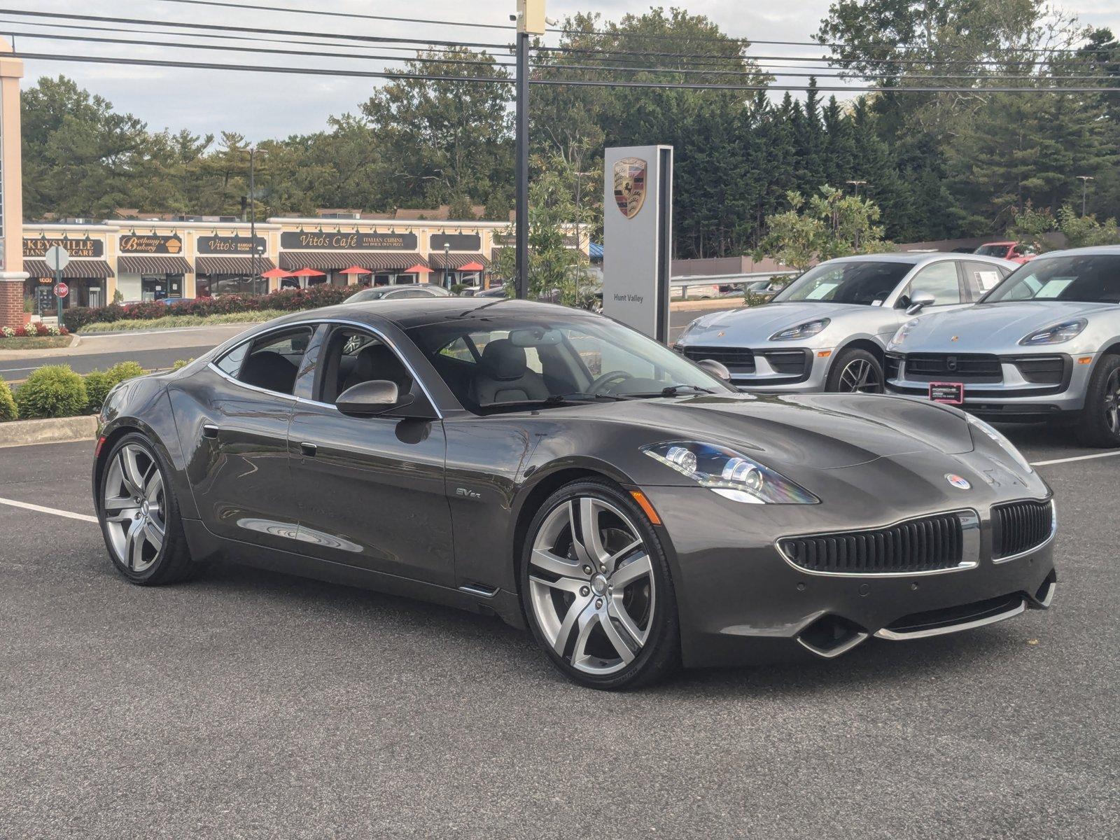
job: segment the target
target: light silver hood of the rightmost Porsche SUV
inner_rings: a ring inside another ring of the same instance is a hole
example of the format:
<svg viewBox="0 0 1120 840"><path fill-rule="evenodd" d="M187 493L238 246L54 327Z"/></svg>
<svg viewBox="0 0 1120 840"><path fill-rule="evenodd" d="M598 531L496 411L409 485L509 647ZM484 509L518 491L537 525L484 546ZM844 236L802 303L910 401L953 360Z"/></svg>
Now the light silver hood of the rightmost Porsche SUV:
<svg viewBox="0 0 1120 840"><path fill-rule="evenodd" d="M1010 304L974 304L952 312L921 318L902 344L890 349L902 353L955 351L958 353L1004 353L1021 348L1019 342L1039 329L1074 318L1085 318L1114 304L1083 304L1075 300L1023 300Z"/></svg>

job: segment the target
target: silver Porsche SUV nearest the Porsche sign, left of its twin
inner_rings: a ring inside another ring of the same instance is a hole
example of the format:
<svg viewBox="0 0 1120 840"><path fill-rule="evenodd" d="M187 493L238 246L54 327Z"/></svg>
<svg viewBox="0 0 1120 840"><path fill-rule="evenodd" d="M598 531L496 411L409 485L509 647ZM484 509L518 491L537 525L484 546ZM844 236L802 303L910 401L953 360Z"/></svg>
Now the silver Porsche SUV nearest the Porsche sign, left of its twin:
<svg viewBox="0 0 1120 840"><path fill-rule="evenodd" d="M1016 268L958 253L829 260L768 304L698 318L674 348L697 362L719 362L740 390L879 393L887 343L898 327L979 300Z"/></svg>

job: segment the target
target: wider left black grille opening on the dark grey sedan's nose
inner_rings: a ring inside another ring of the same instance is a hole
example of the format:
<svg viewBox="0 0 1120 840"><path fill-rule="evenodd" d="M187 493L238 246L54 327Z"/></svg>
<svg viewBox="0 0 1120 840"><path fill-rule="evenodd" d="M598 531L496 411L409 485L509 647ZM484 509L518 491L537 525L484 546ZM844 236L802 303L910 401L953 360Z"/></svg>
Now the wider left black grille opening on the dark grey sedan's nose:
<svg viewBox="0 0 1120 840"><path fill-rule="evenodd" d="M964 549L955 513L911 520L875 531L849 531L778 541L790 562L809 571L875 575L953 569Z"/></svg>

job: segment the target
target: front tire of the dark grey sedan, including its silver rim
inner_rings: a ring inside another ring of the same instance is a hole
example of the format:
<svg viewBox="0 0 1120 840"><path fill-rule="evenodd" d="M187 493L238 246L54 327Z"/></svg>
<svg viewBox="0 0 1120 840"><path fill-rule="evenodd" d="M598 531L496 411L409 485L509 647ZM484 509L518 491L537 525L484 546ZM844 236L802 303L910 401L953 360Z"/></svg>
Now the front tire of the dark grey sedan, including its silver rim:
<svg viewBox="0 0 1120 840"><path fill-rule="evenodd" d="M588 544L584 523L591 521L597 536ZM664 548L629 494L610 482L572 482L541 505L522 551L521 603L549 661L580 685L641 688L680 664Z"/></svg>

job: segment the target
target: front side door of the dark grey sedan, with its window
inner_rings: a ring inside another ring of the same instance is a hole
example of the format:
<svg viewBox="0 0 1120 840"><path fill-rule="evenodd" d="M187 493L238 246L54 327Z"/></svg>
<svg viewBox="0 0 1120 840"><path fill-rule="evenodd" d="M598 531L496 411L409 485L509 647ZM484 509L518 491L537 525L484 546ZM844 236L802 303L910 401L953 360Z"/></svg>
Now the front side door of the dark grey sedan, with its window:
<svg viewBox="0 0 1120 840"><path fill-rule="evenodd" d="M370 380L395 382L430 407L392 347L370 332L335 328L324 344L316 399L296 405L289 428L300 550L452 586L444 424L435 418L339 413L338 394Z"/></svg>

